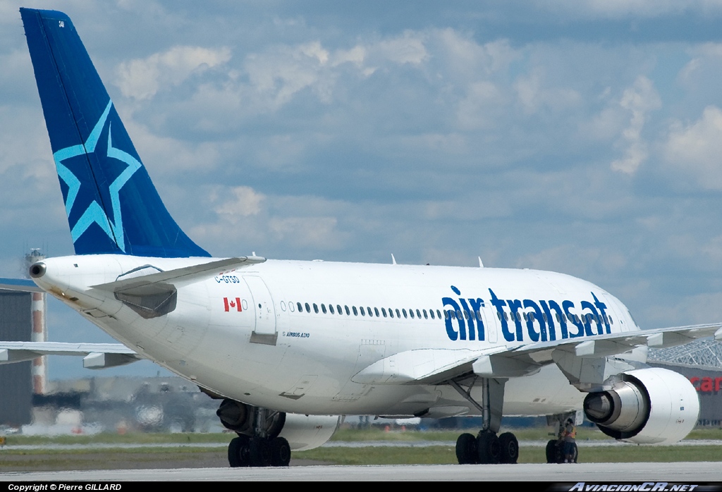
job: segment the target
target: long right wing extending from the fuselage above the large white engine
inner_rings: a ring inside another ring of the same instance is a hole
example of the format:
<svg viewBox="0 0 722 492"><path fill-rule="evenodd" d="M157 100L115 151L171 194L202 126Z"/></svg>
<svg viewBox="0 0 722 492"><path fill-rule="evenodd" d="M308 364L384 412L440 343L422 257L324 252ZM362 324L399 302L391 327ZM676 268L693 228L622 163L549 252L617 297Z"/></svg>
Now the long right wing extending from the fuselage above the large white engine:
<svg viewBox="0 0 722 492"><path fill-rule="evenodd" d="M355 374L352 380L376 385L435 385L474 374L482 377L519 377L533 374L546 364L560 363L562 356L567 360L570 357L598 359L630 352L640 346L666 348L711 336L722 341L722 323L517 343L483 351L426 348L395 353L376 361Z"/></svg>

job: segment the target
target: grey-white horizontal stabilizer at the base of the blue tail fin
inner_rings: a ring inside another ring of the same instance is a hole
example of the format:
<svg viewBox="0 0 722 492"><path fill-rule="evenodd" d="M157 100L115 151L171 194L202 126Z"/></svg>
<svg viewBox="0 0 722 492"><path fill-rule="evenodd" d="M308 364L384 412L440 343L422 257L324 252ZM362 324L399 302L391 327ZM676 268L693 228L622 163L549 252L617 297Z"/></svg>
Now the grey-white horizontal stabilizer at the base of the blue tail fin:
<svg viewBox="0 0 722 492"><path fill-rule="evenodd" d="M222 271L230 271L235 268L243 268L249 265L264 263L266 258L261 256L241 256L238 258L226 258L225 260L216 260L209 263L201 263L199 265L191 265L183 268L175 268L174 270L160 271L152 265L144 265L135 268L134 271L123 274L124 277L108 284L98 284L92 286L93 289L100 289L108 292L132 292L142 290L144 287L156 284L170 284L177 287L193 284L217 275ZM154 273L144 273L153 271ZM120 277L119 277L120 278Z"/></svg>

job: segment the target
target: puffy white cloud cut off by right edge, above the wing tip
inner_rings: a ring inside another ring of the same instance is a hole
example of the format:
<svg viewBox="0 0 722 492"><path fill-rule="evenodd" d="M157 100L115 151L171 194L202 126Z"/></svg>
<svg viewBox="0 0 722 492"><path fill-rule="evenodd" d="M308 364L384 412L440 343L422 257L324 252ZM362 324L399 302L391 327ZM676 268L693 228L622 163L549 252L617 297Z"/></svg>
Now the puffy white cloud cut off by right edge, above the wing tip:
<svg viewBox="0 0 722 492"><path fill-rule="evenodd" d="M705 108L695 123L673 123L664 146L666 161L707 190L722 190L722 110Z"/></svg>

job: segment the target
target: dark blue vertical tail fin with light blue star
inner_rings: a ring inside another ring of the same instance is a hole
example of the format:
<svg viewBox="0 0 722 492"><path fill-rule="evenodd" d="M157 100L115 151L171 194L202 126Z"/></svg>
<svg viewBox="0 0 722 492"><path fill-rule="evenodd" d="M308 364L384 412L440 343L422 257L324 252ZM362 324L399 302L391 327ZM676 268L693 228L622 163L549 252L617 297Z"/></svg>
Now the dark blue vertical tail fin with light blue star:
<svg viewBox="0 0 722 492"><path fill-rule="evenodd" d="M160 200L70 18L20 14L76 254L209 256Z"/></svg>

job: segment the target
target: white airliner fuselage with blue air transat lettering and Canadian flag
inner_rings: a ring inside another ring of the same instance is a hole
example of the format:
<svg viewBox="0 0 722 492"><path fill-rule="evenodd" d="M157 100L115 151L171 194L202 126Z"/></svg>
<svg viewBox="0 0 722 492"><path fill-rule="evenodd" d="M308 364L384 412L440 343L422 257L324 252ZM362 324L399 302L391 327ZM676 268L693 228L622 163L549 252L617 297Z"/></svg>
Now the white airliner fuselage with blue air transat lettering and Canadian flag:
<svg viewBox="0 0 722 492"><path fill-rule="evenodd" d="M448 385L376 385L352 377L404 351L491 353L638 330L627 308L598 286L532 270L268 260L178 286L173 312L152 319L91 288L143 265L169 271L208 261L50 258L36 282L113 338L198 385L291 413L409 416L433 408L440 416L475 414ZM453 317L445 315L449 310ZM504 413L562 413L579 409L582 400L557 366L547 364L508 381Z"/></svg>

